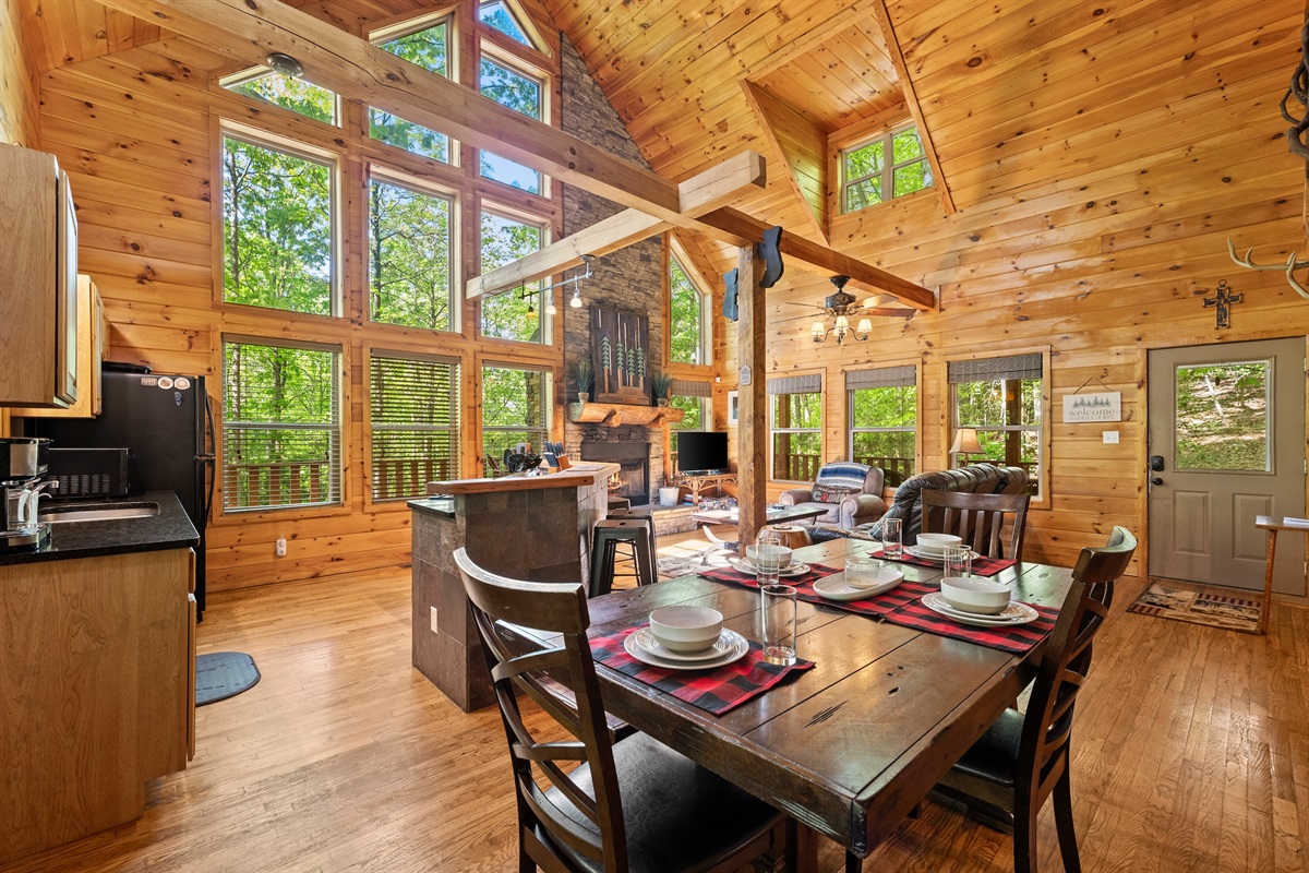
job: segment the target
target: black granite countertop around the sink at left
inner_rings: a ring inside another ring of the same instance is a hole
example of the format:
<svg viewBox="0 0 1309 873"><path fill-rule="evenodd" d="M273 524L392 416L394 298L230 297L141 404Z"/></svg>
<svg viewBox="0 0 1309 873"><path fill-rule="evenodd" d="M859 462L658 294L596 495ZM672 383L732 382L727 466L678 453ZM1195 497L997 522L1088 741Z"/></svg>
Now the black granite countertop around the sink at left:
<svg viewBox="0 0 1309 873"><path fill-rule="evenodd" d="M147 491L113 503L127 501L157 503L160 514L145 518L111 518L51 525L50 542L41 550L0 552L0 565L187 548L199 544L200 534L196 533L177 495L171 491ZM50 505L47 501L41 504L42 509Z"/></svg>

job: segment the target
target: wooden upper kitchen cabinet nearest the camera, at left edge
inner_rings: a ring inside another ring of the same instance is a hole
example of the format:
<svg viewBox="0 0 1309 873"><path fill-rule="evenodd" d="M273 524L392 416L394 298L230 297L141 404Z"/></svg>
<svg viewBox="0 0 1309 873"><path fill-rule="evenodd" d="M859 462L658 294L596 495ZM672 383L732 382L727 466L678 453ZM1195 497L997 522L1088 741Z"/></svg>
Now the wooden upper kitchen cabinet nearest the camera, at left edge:
<svg viewBox="0 0 1309 873"><path fill-rule="evenodd" d="M0 406L77 401L77 217L54 154L0 144Z"/></svg>

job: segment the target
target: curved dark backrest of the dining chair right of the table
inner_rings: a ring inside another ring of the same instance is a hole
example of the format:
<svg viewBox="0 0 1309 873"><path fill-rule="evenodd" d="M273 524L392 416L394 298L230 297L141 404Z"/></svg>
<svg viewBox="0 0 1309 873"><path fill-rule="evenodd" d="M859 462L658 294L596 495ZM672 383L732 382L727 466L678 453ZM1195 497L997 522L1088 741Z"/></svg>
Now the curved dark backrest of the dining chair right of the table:
<svg viewBox="0 0 1309 873"><path fill-rule="evenodd" d="M1077 691L1090 673L1092 641L1114 599L1114 582L1127 569L1136 538L1114 527L1102 548L1083 548L1072 571L1072 588L1059 610L1028 700L1018 746L1018 791L1033 792L1033 809L1050 794L1068 766Z"/></svg>

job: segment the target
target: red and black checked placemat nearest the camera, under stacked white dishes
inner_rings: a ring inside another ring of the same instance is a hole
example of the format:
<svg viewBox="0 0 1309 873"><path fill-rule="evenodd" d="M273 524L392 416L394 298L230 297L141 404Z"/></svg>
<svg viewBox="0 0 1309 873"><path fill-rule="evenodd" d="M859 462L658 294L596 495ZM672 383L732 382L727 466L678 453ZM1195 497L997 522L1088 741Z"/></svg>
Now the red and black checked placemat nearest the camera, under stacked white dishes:
<svg viewBox="0 0 1309 873"><path fill-rule="evenodd" d="M725 666L709 670L665 670L637 661L623 648L627 635L637 627L593 637L590 650L596 661L716 716L757 698L788 675L814 665L805 658L797 658L791 666L768 664L763 660L759 645L751 641L745 657Z"/></svg>

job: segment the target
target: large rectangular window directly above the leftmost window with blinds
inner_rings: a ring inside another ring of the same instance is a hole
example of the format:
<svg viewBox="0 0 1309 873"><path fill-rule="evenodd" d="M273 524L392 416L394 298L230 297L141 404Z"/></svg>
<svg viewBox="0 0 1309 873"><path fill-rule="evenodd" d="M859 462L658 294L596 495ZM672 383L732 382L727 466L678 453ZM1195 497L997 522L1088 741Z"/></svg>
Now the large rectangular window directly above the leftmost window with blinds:
<svg viewBox="0 0 1309 873"><path fill-rule="evenodd" d="M335 166L223 137L223 300L332 313Z"/></svg>

